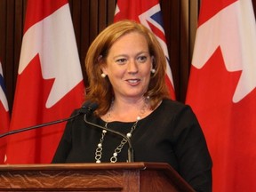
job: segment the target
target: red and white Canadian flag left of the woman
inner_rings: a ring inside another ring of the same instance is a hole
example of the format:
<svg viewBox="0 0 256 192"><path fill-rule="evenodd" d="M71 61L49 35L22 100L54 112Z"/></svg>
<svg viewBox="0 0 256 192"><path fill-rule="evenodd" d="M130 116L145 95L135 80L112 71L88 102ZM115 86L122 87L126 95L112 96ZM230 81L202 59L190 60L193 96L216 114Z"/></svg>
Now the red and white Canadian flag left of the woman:
<svg viewBox="0 0 256 192"><path fill-rule="evenodd" d="M68 0L28 0L11 130L66 118L84 100ZM6 164L48 164L65 123L8 136Z"/></svg>

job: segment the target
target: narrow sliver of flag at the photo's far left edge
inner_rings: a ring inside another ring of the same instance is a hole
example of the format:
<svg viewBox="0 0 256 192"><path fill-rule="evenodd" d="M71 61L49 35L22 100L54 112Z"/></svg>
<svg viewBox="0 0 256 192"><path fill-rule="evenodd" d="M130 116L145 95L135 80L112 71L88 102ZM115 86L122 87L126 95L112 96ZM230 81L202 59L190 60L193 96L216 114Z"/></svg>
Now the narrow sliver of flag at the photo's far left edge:
<svg viewBox="0 0 256 192"><path fill-rule="evenodd" d="M0 134L8 132L10 125L9 107L6 99L4 73L0 61ZM4 164L6 138L0 138L0 164Z"/></svg>

